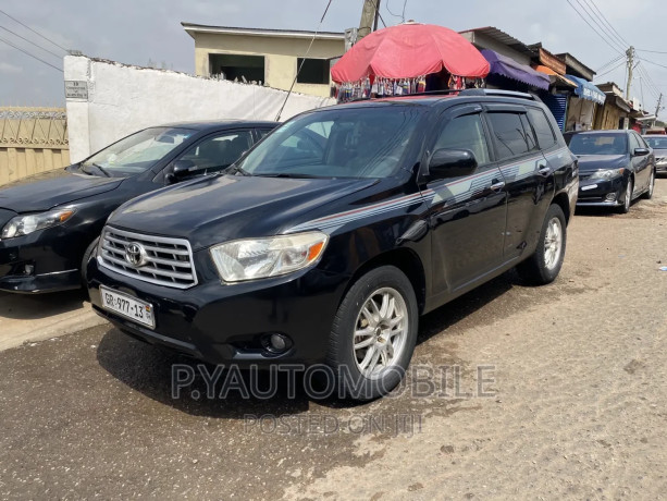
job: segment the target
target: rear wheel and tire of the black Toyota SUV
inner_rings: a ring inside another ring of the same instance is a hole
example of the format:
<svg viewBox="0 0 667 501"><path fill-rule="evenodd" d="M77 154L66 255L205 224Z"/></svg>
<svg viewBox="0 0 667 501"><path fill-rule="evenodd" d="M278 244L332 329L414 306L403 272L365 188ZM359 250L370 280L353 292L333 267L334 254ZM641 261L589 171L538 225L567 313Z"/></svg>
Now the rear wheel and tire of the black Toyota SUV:
<svg viewBox="0 0 667 501"><path fill-rule="evenodd" d="M531 285L546 285L558 277L567 244L565 213L557 204L546 211L535 252L517 266L521 279Z"/></svg>

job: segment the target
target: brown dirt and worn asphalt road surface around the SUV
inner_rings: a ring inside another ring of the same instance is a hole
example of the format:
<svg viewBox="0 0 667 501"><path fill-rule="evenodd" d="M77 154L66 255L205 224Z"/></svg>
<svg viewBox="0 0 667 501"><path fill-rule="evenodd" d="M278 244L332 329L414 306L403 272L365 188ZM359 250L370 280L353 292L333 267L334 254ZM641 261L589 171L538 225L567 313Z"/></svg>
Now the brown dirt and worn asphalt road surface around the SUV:
<svg viewBox="0 0 667 501"><path fill-rule="evenodd" d="M195 400L200 378L174 400L183 359L107 325L4 351L0 498L662 499L662 266L666 179L578 213L554 284L509 272L423 318L421 371L366 405Z"/></svg>

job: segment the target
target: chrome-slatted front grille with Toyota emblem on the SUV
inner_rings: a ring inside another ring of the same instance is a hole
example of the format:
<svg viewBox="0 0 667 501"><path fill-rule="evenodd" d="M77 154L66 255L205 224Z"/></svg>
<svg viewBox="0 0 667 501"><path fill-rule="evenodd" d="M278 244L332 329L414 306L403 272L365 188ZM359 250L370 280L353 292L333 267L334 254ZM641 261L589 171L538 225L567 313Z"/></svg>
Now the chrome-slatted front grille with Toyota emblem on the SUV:
<svg viewBox="0 0 667 501"><path fill-rule="evenodd" d="M104 268L157 285L188 289L197 284L193 249L187 240L109 227L101 240L98 260Z"/></svg>

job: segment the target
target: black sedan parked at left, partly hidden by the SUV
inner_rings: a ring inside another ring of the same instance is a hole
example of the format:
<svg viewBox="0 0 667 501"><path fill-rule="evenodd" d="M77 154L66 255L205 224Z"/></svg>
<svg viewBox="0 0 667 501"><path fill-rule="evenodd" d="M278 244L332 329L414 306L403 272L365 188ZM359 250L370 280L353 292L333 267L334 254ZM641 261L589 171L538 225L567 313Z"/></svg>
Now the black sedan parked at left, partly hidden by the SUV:
<svg viewBox="0 0 667 501"><path fill-rule="evenodd" d="M81 288L83 262L116 207L228 167L275 125L225 121L149 127L64 170L0 188L0 290Z"/></svg>

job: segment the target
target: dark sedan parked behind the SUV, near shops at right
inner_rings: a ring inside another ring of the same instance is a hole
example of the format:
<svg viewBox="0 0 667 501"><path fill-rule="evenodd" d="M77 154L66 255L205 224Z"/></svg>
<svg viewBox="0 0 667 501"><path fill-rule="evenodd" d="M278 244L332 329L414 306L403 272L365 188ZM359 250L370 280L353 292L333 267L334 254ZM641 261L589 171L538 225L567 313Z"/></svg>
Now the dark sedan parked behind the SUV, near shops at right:
<svg viewBox="0 0 667 501"><path fill-rule="evenodd" d="M568 139L579 157L578 205L617 207L625 213L635 198L653 196L655 157L637 132L590 131Z"/></svg>

